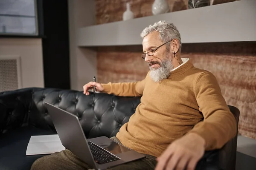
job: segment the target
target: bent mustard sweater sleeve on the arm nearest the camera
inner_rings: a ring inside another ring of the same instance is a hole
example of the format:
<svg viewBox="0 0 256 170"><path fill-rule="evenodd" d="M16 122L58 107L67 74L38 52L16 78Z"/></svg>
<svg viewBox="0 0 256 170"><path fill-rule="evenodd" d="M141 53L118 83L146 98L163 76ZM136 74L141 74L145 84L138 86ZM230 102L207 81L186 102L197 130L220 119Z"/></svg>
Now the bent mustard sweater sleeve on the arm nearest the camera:
<svg viewBox="0 0 256 170"><path fill-rule="evenodd" d="M197 133L203 137L206 150L219 149L236 136L236 119L212 73L200 74L195 81L194 91L204 121L195 125L189 133Z"/></svg>

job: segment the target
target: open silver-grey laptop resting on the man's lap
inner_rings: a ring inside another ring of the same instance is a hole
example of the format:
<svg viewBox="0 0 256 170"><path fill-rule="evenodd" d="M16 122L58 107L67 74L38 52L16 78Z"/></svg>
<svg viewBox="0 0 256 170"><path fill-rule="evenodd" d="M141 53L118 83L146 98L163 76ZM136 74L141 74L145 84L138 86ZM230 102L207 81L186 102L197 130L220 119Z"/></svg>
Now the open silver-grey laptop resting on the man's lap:
<svg viewBox="0 0 256 170"><path fill-rule="evenodd" d="M76 115L45 104L63 146L90 167L102 170L145 157L106 136L86 139Z"/></svg>

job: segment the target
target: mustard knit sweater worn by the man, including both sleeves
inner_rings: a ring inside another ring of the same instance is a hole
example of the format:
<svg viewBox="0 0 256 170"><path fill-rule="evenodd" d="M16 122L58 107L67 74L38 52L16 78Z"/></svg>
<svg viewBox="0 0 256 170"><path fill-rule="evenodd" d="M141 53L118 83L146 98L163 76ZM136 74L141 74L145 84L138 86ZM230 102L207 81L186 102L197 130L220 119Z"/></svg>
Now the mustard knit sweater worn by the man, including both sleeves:
<svg viewBox="0 0 256 170"><path fill-rule="evenodd" d="M214 75L190 61L160 83L148 74L139 82L102 85L108 94L142 96L129 122L116 134L123 145L137 152L160 156L186 133L197 133L205 139L206 150L213 150L236 135L236 119Z"/></svg>

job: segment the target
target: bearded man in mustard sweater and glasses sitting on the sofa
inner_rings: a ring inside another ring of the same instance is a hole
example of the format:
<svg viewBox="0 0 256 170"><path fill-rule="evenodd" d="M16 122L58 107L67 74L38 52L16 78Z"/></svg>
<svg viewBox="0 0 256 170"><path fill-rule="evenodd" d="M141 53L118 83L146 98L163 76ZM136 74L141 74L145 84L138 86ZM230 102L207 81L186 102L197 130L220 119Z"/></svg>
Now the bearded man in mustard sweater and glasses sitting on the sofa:
<svg viewBox="0 0 256 170"><path fill-rule="evenodd" d="M146 157L111 170L194 170L205 150L221 148L236 135L230 112L214 75L181 58L180 33L159 21L141 33L142 58L150 71L139 82L84 85L117 96L142 96L135 113L112 139ZM33 170L88 169L69 150L44 156Z"/></svg>

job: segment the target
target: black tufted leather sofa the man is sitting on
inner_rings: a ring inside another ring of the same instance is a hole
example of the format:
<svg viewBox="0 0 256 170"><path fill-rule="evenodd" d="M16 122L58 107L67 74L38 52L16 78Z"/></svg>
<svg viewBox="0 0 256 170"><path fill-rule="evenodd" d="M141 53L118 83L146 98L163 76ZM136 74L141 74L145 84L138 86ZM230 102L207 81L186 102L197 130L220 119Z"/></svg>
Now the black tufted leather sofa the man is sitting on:
<svg viewBox="0 0 256 170"><path fill-rule="evenodd" d="M76 114L85 136L115 136L128 122L140 97L108 94L85 96L81 91L24 88L0 93L0 170L29 170L44 155L26 156L32 135L56 134L44 102ZM229 106L239 121L239 110ZM207 151L197 170L235 170L237 136L220 150Z"/></svg>

